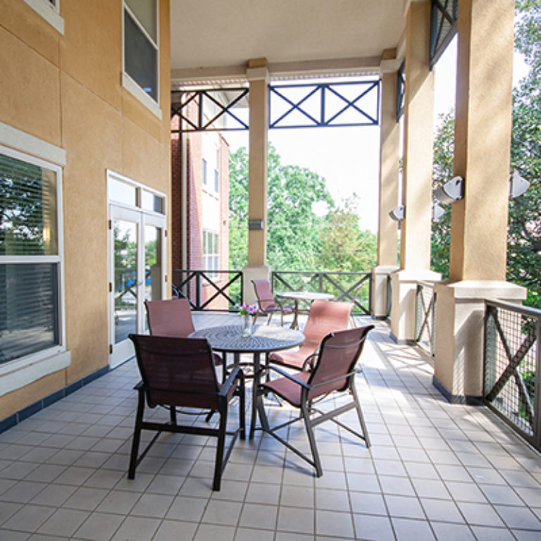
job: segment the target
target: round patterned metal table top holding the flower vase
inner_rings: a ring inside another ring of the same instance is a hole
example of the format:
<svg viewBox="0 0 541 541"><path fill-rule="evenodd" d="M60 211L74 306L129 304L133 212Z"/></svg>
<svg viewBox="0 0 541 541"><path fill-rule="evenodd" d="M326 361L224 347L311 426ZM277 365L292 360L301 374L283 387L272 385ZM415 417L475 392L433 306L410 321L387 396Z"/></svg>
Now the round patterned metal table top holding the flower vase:
<svg viewBox="0 0 541 541"><path fill-rule="evenodd" d="M212 349L230 353L278 352L304 342L302 332L283 327L256 325L248 337L242 337L241 332L241 324L222 325L196 330L189 337L206 338Z"/></svg>

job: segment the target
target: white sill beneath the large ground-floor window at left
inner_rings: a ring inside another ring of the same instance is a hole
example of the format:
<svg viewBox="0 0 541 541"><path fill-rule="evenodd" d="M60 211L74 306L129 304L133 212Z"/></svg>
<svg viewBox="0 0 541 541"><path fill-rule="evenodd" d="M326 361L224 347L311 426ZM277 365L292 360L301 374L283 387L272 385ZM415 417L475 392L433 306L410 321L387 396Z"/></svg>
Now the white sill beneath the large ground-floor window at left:
<svg viewBox="0 0 541 541"><path fill-rule="evenodd" d="M0 365L0 396L18 390L46 375L70 366L71 353L60 349L50 350L51 354L28 356Z"/></svg>

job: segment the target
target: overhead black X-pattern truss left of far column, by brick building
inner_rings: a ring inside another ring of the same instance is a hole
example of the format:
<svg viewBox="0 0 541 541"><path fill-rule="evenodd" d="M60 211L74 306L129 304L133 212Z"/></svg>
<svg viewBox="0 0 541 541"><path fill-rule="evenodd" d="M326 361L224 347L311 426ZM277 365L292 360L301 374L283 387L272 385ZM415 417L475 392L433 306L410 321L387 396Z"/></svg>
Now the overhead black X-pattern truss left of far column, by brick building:
<svg viewBox="0 0 541 541"><path fill-rule="evenodd" d="M242 115L247 111L247 99L247 87L174 91L171 118L178 115L180 123L171 132L247 130L248 121Z"/></svg>

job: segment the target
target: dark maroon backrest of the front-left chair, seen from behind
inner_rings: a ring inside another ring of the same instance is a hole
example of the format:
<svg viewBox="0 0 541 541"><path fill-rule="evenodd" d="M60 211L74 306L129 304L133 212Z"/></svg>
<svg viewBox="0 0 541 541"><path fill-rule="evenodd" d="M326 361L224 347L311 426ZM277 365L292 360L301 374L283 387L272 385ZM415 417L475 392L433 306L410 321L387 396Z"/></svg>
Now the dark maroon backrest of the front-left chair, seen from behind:
<svg viewBox="0 0 541 541"><path fill-rule="evenodd" d="M218 409L220 389L206 339L129 335L149 406Z"/></svg>

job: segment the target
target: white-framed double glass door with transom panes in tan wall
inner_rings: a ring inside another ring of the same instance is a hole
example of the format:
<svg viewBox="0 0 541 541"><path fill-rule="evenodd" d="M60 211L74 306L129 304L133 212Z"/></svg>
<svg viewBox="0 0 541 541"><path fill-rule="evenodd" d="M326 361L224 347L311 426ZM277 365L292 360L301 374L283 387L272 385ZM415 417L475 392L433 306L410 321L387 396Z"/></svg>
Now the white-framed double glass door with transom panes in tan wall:
<svg viewBox="0 0 541 541"><path fill-rule="evenodd" d="M109 363L134 354L130 332L147 332L145 300L165 293L165 216L110 207Z"/></svg>

